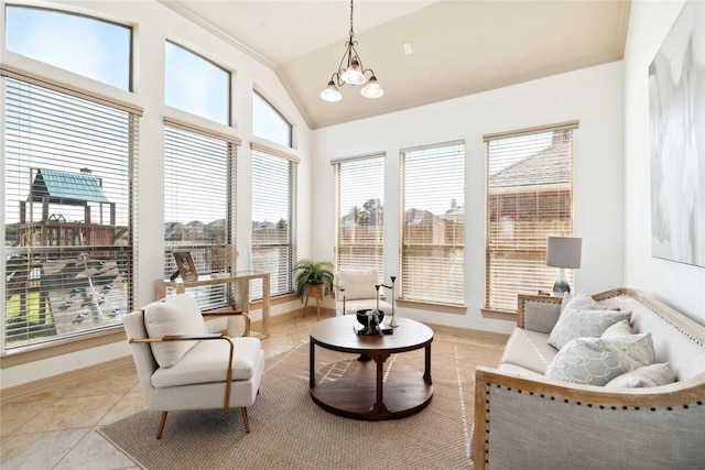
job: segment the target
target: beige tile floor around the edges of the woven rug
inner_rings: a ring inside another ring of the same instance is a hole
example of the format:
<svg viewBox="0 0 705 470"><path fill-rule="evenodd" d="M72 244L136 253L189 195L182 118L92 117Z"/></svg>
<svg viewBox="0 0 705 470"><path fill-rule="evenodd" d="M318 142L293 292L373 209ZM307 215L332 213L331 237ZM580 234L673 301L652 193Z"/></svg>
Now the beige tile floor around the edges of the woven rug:
<svg viewBox="0 0 705 470"><path fill-rule="evenodd" d="M265 356L276 356L306 341L315 321L315 313L308 313L306 318L272 325L270 337L262 340ZM436 338L442 337L477 341L436 332ZM6 402L0 409L2 470L139 469L96 433L145 407L132 365Z"/></svg>

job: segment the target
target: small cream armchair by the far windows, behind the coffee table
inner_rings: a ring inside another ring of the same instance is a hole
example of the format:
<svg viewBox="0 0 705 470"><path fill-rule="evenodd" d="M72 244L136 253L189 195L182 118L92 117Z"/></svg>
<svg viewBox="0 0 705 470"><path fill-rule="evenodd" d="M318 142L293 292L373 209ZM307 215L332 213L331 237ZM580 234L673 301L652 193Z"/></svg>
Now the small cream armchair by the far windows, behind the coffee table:
<svg viewBox="0 0 705 470"><path fill-rule="evenodd" d="M379 286L379 288L376 286ZM335 314L349 315L355 314L357 310L379 308L384 311L384 316L391 316L392 305L380 298L383 295L380 292L383 287L391 288L391 286L379 283L377 270L338 271L336 275Z"/></svg>

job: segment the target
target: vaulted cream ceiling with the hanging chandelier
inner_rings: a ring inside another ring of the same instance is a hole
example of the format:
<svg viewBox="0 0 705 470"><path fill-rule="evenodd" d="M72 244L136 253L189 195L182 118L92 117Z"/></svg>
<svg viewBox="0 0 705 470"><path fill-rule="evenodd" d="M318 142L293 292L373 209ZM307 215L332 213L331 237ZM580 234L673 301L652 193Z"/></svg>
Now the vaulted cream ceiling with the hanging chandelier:
<svg viewBox="0 0 705 470"><path fill-rule="evenodd" d="M350 29L346 0L160 0L270 66L312 129L382 114L622 58L628 0L357 0L355 39L382 98L340 88ZM403 44L411 43L412 54Z"/></svg>

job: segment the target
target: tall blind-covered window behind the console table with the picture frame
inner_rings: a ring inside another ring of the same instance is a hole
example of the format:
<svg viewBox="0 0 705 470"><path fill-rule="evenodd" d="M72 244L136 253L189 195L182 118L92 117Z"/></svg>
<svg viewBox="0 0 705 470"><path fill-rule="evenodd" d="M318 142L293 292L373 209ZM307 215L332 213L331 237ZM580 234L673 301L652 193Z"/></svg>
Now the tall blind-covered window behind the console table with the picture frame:
<svg viewBox="0 0 705 470"><path fill-rule="evenodd" d="M177 271L174 251L188 251L198 274L231 271L240 141L170 118L164 123L164 276ZM221 285L188 292L200 308L228 300Z"/></svg>

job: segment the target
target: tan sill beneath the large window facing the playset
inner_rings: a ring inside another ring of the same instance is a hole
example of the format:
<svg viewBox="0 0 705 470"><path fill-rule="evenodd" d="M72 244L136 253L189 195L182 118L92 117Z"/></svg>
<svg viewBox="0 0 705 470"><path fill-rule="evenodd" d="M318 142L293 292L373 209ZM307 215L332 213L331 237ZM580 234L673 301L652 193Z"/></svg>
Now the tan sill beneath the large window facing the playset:
<svg viewBox="0 0 705 470"><path fill-rule="evenodd" d="M126 341L124 329L122 326L112 328L109 331L101 331L90 336L79 338L70 338L66 340L56 340L52 343L29 346L17 351L10 351L0 357L0 369L12 368L15 365L26 364L42 359L48 359L56 356L67 354L70 352L83 351L98 346L110 345L118 341Z"/></svg>

